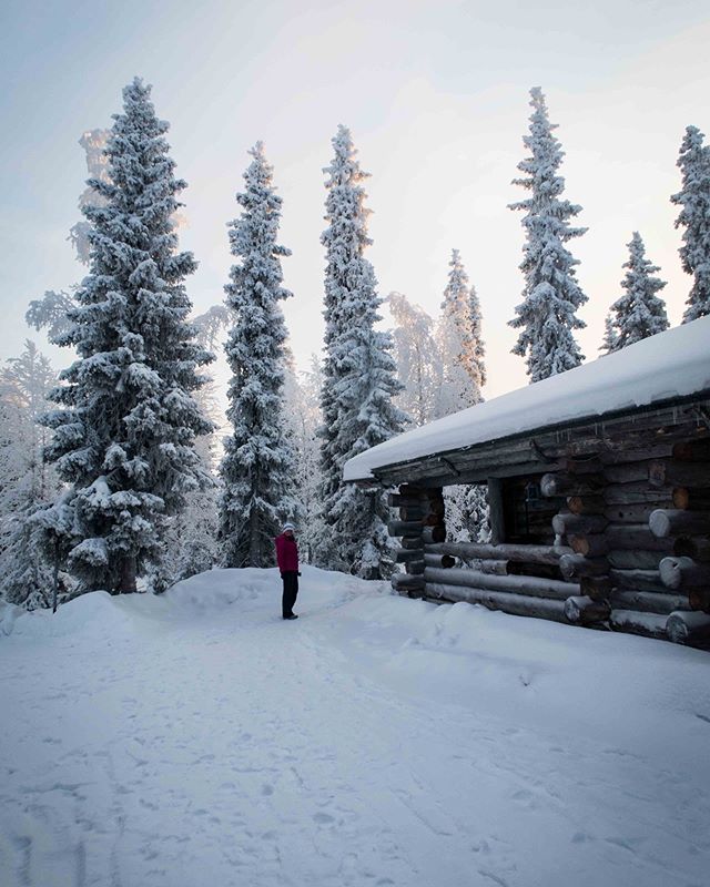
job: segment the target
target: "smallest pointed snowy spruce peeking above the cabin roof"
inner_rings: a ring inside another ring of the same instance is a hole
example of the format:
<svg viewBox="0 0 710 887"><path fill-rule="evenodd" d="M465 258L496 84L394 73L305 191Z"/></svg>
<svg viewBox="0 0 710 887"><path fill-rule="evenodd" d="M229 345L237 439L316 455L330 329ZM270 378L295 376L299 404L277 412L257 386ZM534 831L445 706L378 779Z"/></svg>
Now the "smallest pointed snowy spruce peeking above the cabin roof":
<svg viewBox="0 0 710 887"><path fill-rule="evenodd" d="M626 293L611 306L609 351L618 351L668 329L666 303L656 295L666 286L665 281L653 277L660 268L646 258L646 247L638 231L633 232L627 246L629 261L623 267L628 271L621 281Z"/></svg>

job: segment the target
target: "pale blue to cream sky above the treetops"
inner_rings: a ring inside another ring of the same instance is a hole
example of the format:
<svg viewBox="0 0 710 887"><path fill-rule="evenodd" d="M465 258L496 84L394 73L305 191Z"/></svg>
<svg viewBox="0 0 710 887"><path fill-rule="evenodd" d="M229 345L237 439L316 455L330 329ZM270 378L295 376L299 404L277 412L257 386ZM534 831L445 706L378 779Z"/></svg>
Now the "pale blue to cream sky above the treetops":
<svg viewBox="0 0 710 887"><path fill-rule="evenodd" d="M710 135L704 0L4 0L0 16L2 360L28 335L55 363L71 358L23 315L31 298L85 273L67 242L87 177L78 140L110 125L135 74L153 84L190 185L182 246L200 262L187 282L199 313L223 298L225 223L247 149L265 142L284 198L281 239L293 249L285 314L301 367L321 348L322 169L344 123L372 173L368 257L381 293L405 293L435 315L458 248L484 312L486 396L527 381L509 354L523 231L506 206L523 196L510 182L534 85L559 124L566 196L589 227L570 244L589 296L587 358L635 230L680 320L690 278L669 195L686 125Z"/></svg>

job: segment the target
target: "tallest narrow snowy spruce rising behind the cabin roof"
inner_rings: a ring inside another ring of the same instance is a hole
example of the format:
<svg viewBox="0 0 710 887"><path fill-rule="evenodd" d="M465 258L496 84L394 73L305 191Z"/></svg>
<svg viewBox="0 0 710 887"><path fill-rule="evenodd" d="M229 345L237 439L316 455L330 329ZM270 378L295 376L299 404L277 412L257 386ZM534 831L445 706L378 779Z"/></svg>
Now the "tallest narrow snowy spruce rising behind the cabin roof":
<svg viewBox="0 0 710 887"><path fill-rule="evenodd" d="M581 364L584 355L572 335L586 324L575 312L587 302L575 274L579 261L565 247L587 228L575 228L569 220L581 207L562 200L565 180L557 170L565 156L552 134L556 123L547 115L545 96L539 86L530 90L530 134L523 137L530 156L518 164L525 179L514 184L530 192L529 198L510 204L510 210L525 213L525 258L520 264L525 277L523 302L517 317L509 325L521 329L513 354L526 358L530 381L539 381Z"/></svg>

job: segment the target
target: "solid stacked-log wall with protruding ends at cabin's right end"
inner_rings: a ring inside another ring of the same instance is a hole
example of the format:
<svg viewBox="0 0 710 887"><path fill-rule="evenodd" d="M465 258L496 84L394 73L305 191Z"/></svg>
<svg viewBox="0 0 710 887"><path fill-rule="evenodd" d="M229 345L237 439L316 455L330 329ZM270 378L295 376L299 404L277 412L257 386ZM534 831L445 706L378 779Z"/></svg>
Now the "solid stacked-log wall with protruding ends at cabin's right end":
<svg viewBox="0 0 710 887"><path fill-rule="evenodd" d="M562 571L579 575L588 601L568 608L571 621L586 611L604 615L592 606L604 602L612 629L682 643L710 638L710 624L706 632L702 619L683 615L710 613L710 569L702 561L710 568L707 442L667 445L660 453L616 451L601 457L600 475L600 489L575 490L554 521L575 552ZM542 488L566 483L551 476Z"/></svg>

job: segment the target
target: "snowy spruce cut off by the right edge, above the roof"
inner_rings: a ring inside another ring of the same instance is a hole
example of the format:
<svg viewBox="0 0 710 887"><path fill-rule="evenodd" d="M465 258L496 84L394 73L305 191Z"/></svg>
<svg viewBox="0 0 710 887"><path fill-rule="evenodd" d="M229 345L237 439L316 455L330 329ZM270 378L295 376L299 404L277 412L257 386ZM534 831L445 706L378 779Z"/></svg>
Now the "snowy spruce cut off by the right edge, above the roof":
<svg viewBox="0 0 710 887"><path fill-rule="evenodd" d="M683 271L693 275L683 323L710 314L710 145L697 126L686 129L678 166L682 187L671 201L681 210L676 227L683 227L680 258Z"/></svg>

